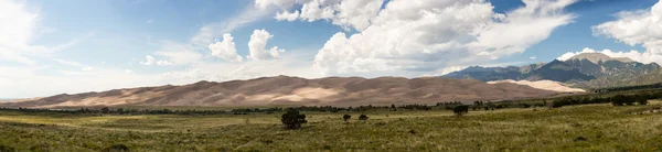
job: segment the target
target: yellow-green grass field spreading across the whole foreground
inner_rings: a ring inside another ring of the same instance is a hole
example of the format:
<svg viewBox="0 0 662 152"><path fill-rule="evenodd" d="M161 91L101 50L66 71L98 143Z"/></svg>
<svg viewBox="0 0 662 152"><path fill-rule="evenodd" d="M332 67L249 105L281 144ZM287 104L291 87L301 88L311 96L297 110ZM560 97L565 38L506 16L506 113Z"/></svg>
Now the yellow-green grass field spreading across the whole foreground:
<svg viewBox="0 0 662 152"><path fill-rule="evenodd" d="M557 109L303 112L286 130L281 113L84 116L0 112L0 146L18 151L660 151L661 106L567 106Z"/></svg>

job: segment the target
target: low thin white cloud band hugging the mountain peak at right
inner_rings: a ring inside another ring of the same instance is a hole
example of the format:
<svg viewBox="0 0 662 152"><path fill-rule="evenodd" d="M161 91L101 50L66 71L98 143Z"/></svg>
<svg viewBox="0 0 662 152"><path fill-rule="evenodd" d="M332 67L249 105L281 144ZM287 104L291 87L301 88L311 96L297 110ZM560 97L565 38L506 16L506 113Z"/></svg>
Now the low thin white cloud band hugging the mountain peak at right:
<svg viewBox="0 0 662 152"><path fill-rule="evenodd" d="M570 57L573 57L577 54L581 54L581 53L602 53L609 57L628 57L632 61L644 63L644 64L649 64L649 63L662 64L662 55L660 55L660 54L653 54L650 52L641 53L638 51L630 51L630 52L615 52L611 50L596 51L596 50L592 50L589 47L585 47L580 52L567 52L567 53L558 56L556 59L567 61Z"/></svg>

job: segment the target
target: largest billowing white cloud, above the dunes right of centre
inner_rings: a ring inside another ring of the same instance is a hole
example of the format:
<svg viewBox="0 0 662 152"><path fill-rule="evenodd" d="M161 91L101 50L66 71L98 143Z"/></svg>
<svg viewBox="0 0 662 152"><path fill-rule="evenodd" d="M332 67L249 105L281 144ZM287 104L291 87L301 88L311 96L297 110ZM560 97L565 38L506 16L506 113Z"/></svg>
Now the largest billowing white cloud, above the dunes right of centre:
<svg viewBox="0 0 662 152"><path fill-rule="evenodd" d="M575 18L564 8L576 0L523 2L502 14L480 0L393 0L360 33L334 34L314 66L325 75L440 73L522 53Z"/></svg>

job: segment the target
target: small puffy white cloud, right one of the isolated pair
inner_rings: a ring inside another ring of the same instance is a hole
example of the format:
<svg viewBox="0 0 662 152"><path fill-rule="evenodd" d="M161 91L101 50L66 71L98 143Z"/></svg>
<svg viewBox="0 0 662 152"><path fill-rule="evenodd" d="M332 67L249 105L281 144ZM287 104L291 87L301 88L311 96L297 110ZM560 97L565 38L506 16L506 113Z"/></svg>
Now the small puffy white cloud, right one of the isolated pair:
<svg viewBox="0 0 662 152"><path fill-rule="evenodd" d="M279 54L284 53L285 50L278 48L278 46L274 46L268 51L265 48L267 46L267 42L271 37L274 37L274 35L269 34L269 32L264 29L253 31L250 41L248 41L248 52L250 55L246 56L246 58L250 58L253 61L278 58Z"/></svg>

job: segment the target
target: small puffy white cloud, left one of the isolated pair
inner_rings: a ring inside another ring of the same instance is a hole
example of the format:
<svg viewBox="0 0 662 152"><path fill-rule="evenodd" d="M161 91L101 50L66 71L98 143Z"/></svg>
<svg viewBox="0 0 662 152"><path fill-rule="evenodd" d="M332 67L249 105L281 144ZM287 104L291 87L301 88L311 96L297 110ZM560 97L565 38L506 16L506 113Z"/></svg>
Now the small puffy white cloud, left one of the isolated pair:
<svg viewBox="0 0 662 152"><path fill-rule="evenodd" d="M229 34L223 34L223 41L210 44L212 56L221 57L228 62L242 62L244 58L237 54L237 48L233 42L234 37Z"/></svg>

